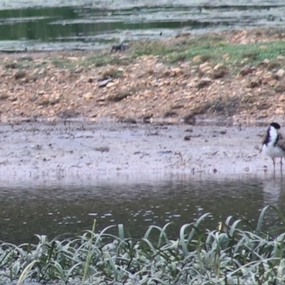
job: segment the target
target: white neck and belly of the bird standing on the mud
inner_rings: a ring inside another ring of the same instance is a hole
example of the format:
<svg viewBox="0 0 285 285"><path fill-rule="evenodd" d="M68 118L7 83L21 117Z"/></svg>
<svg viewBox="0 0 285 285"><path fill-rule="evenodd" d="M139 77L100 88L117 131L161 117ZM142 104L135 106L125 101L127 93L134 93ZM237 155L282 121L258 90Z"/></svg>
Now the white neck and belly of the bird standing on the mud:
<svg viewBox="0 0 285 285"><path fill-rule="evenodd" d="M285 157L284 150L279 147L277 144L279 139L279 133L273 126L269 126L269 129L267 130L267 140L266 143L262 145L262 152L264 152L266 155L271 157L273 160L276 157Z"/></svg>

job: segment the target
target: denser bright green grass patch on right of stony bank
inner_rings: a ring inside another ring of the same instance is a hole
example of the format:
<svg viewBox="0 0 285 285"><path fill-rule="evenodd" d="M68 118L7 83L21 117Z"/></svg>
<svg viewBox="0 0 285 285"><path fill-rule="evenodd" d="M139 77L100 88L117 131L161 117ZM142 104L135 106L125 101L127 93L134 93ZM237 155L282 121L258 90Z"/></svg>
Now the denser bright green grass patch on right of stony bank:
<svg viewBox="0 0 285 285"><path fill-rule="evenodd" d="M277 56L285 55L285 41L232 44L219 37L202 36L169 44L162 41L135 43L130 48L130 53L135 58L143 55L160 56L170 63L189 61L200 56L202 62L256 65L265 58L277 61Z"/></svg>

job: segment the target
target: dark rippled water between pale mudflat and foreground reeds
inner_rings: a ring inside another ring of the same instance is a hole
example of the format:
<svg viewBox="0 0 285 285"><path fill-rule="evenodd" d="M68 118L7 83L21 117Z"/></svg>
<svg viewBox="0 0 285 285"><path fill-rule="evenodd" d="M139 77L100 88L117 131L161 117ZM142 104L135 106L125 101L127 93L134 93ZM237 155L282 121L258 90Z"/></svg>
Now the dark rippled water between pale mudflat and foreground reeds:
<svg viewBox="0 0 285 285"><path fill-rule="evenodd" d="M182 224L194 222L206 212L213 217L206 227L217 228L219 217L234 215L253 223L267 204L284 211L285 184L282 177L187 177L133 182L120 180L88 185L10 185L0 187L0 239L27 242L33 234L80 234L112 224L124 224L133 237L142 237L147 227L167 222L170 237L178 237ZM269 211L265 227L280 225ZM113 233L116 230L114 229Z"/></svg>

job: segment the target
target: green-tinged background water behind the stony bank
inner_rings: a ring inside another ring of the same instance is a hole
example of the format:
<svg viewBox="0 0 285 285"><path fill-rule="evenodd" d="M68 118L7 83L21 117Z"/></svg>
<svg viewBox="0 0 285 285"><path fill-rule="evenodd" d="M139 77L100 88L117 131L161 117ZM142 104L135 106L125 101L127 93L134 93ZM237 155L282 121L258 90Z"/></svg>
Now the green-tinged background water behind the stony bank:
<svg viewBox="0 0 285 285"><path fill-rule="evenodd" d="M94 49L180 32L284 24L283 0L4 0L0 51Z"/></svg>

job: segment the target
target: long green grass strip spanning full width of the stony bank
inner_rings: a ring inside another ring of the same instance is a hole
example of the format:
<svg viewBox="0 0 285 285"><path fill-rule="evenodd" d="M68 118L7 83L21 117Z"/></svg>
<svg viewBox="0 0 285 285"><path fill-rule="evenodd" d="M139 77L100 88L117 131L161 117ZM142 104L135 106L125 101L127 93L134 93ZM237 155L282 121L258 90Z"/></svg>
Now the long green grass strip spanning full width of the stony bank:
<svg viewBox="0 0 285 285"><path fill-rule="evenodd" d="M100 66L128 66L140 56L158 56L161 61L175 64L181 61L192 61L199 56L197 63L211 61L224 63L227 66L239 67L248 64L255 66L265 58L270 64L268 68L284 66L284 60L277 60L277 56L285 56L285 41L269 41L247 44L232 44L224 40L223 36L203 35L194 38L175 38L169 41L135 41L129 43L125 51L111 52L110 48L104 51L92 51L87 55L78 56L78 60L63 56L52 56L43 60L33 60L30 57L19 58L16 62L3 63L6 68L45 68L52 64L56 68L74 69L95 68Z"/></svg>

